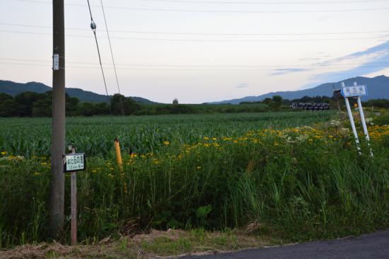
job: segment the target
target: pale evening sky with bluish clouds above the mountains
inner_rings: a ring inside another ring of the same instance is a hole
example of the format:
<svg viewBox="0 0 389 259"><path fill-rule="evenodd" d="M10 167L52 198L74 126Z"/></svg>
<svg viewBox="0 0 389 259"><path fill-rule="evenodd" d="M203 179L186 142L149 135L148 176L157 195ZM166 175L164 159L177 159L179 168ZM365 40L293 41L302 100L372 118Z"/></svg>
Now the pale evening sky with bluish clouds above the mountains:
<svg viewBox="0 0 389 259"><path fill-rule="evenodd" d="M389 0L90 0L108 93L204 103L389 75ZM66 87L105 94L87 0L65 0ZM52 1L0 0L0 79L52 86Z"/></svg>

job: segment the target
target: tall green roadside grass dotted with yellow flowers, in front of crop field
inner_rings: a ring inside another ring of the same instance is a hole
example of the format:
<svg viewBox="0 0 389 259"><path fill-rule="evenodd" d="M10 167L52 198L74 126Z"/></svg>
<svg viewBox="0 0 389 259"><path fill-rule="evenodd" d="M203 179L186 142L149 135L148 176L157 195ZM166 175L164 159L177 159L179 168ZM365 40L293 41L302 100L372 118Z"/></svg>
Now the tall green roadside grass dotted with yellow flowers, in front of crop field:
<svg viewBox="0 0 389 259"><path fill-rule="evenodd" d="M158 154L123 154L123 171L113 158L89 158L88 170L78 173L80 240L257 221L260 233L296 241L389 225L386 135L372 142L373 158L367 150L359 156L348 134L325 127L197 139L161 142ZM46 240L47 159L5 154L0 161L10 166L0 168L1 247ZM69 194L66 177L66 215ZM65 227L68 233L69 216Z"/></svg>

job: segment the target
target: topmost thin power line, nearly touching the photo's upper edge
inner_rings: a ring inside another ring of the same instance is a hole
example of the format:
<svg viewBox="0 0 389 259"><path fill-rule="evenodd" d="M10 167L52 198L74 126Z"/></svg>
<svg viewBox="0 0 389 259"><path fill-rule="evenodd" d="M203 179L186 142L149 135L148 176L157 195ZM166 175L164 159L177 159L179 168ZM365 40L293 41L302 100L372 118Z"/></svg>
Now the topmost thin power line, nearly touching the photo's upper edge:
<svg viewBox="0 0 389 259"><path fill-rule="evenodd" d="M170 3L184 3L184 4L263 4L263 5L272 5L272 4L362 4L362 3L378 3L378 2L387 2L388 0L356 0L356 1L295 1L295 2L285 2L285 1L274 1L274 2L257 2L257 1L185 1L185 0L143 0L143 1L153 1L153 2L170 2Z"/></svg>

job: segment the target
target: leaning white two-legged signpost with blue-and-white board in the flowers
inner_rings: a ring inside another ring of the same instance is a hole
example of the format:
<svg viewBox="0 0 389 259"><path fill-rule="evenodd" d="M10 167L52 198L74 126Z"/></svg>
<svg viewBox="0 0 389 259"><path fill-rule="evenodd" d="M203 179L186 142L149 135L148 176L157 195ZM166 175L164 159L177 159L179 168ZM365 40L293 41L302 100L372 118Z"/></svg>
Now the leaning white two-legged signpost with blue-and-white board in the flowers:
<svg viewBox="0 0 389 259"><path fill-rule="evenodd" d="M349 119L352 125L352 132L354 133L356 149L358 149L358 153L361 154L361 146L359 146L359 138L356 133L356 127L354 123L354 117L352 116L352 109L350 108L349 98L356 98L356 102L358 103L359 115L361 115L362 127L364 128L364 134L367 142L370 142L370 137L368 137L368 130L366 126L366 120L364 115L364 109L362 108L361 96L367 96L367 88L366 86L358 86L356 82L354 82L353 86L344 86L344 82L342 82L342 96L346 101L347 113L349 113ZM370 149L370 154L373 156L373 151Z"/></svg>

